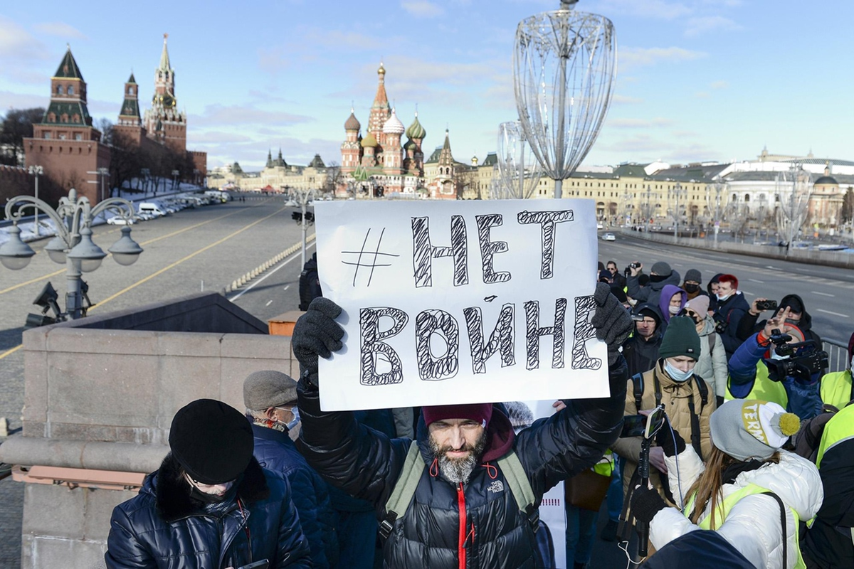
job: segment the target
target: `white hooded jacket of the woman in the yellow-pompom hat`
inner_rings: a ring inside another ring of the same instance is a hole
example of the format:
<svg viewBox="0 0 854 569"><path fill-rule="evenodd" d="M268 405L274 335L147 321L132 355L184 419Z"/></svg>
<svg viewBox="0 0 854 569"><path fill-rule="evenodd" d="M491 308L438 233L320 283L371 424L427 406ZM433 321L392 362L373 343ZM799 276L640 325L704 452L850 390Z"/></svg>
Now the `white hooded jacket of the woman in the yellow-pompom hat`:
<svg viewBox="0 0 854 569"><path fill-rule="evenodd" d="M667 464L671 487L675 487L678 481L682 488L689 488L705 469L690 445L678 456L667 456L664 461ZM681 479L677 473L681 475ZM723 497L726 498L750 484L773 491L787 506L787 566L784 569L794 567L798 560L798 524L792 510L797 512L799 520L810 520L821 507L824 496L816 465L801 456L781 450L778 464L769 462L755 470L747 470L736 476L732 483L722 485ZM682 502L677 502L677 506L682 505ZM709 514L711 501L700 520ZM754 494L743 497L735 503L723 523L720 523L717 517L716 523L717 533L754 566L783 567L781 508L772 496ZM696 530L699 530L699 526L688 520L685 514L676 508L664 508L652 518L649 537L652 545L658 549L676 537Z"/></svg>

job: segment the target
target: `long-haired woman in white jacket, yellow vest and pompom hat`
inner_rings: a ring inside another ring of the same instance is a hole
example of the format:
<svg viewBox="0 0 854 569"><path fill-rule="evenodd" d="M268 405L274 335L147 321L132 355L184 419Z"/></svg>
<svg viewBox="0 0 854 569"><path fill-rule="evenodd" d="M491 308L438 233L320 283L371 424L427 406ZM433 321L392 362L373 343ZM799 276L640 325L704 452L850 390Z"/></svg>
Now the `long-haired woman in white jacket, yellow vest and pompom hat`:
<svg viewBox="0 0 854 569"><path fill-rule="evenodd" d="M798 520L818 512L824 492L816 465L781 450L798 427L797 415L778 404L728 401L711 415L714 449L704 466L665 425L657 439L682 511L666 508L655 491L635 491L632 510L649 522L652 545L661 549L689 531L714 530L757 567L804 567Z"/></svg>

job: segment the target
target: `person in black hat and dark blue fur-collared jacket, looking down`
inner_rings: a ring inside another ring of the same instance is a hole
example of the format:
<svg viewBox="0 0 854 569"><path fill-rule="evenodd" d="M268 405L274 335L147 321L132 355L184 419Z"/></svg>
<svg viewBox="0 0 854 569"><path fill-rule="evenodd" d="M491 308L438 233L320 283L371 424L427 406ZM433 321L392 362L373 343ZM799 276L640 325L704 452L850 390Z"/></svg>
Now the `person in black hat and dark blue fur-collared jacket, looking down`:
<svg viewBox="0 0 854 569"><path fill-rule="evenodd" d="M113 510L108 569L311 567L290 485L253 448L237 409L213 399L178 409L161 467Z"/></svg>

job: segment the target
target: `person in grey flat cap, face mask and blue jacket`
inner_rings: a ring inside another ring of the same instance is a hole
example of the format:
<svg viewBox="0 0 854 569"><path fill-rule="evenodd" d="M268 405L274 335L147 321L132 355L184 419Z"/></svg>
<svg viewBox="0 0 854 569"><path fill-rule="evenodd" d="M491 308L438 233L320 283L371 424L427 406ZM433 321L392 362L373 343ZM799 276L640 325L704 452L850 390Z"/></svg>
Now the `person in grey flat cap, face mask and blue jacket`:
<svg viewBox="0 0 854 569"><path fill-rule="evenodd" d="M290 429L300 421L296 381L280 371L256 371L243 381L243 404L252 423L254 456L261 467L280 473L290 483L291 498L300 516L315 567L338 562L338 516L326 483L308 466Z"/></svg>

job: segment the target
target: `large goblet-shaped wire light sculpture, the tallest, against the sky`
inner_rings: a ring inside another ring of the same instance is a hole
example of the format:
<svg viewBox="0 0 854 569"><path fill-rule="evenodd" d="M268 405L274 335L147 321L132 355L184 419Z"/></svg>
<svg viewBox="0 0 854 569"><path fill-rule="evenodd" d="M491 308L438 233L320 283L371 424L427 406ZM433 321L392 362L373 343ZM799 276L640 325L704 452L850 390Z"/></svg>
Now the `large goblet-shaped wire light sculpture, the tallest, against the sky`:
<svg viewBox="0 0 854 569"><path fill-rule="evenodd" d="M599 135L617 69L611 20L576 12L577 2L519 22L513 50L519 120L555 198Z"/></svg>

